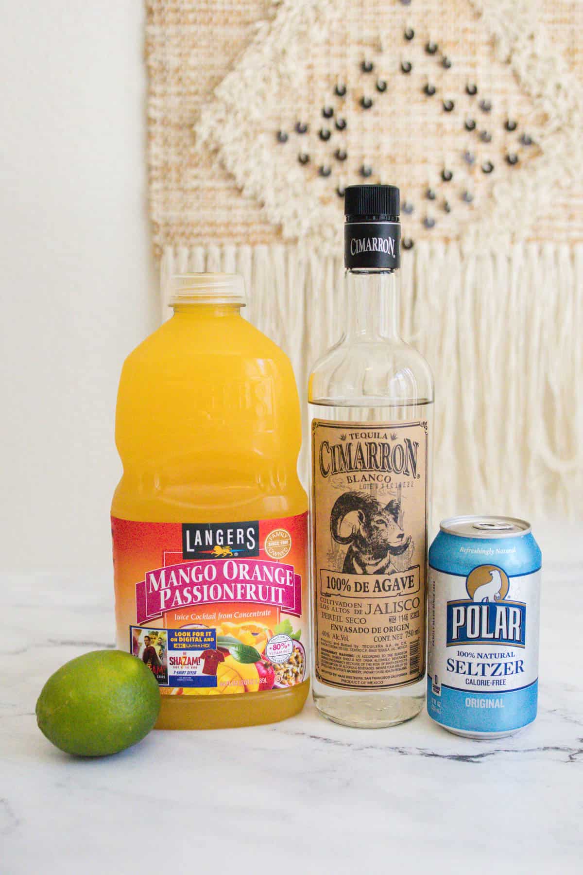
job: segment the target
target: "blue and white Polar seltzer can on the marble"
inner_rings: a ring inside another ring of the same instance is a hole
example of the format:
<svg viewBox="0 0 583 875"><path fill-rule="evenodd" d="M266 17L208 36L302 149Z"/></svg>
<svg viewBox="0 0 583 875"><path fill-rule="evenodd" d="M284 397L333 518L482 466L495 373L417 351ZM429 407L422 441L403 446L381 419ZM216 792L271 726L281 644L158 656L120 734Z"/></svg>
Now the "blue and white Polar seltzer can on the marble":
<svg viewBox="0 0 583 875"><path fill-rule="evenodd" d="M541 554L528 522L458 516L429 549L427 711L499 739L537 716Z"/></svg>

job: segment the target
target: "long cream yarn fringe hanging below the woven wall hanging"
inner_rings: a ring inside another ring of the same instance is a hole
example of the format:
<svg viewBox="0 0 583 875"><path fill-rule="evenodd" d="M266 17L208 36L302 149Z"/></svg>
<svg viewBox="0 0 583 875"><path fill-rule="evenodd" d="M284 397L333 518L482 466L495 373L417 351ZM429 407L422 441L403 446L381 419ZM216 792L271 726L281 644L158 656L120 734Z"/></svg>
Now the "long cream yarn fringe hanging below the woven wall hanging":
<svg viewBox="0 0 583 875"><path fill-rule="evenodd" d="M246 317L288 353L302 399L308 479L309 369L342 332L341 258L302 246L166 248L170 276L245 278ZM435 375L434 521L451 514L583 515L583 245L406 253L403 336Z"/></svg>

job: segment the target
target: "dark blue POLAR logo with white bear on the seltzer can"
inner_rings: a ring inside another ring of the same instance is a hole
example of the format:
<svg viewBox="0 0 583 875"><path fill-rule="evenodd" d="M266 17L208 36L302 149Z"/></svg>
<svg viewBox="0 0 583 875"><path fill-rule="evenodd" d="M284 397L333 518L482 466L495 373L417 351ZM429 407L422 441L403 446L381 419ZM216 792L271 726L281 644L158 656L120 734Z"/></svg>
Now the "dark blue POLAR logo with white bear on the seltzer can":
<svg viewBox="0 0 583 875"><path fill-rule="evenodd" d="M479 565L466 580L469 598L448 602L447 644L512 644L524 648L526 606L510 601L508 575Z"/></svg>

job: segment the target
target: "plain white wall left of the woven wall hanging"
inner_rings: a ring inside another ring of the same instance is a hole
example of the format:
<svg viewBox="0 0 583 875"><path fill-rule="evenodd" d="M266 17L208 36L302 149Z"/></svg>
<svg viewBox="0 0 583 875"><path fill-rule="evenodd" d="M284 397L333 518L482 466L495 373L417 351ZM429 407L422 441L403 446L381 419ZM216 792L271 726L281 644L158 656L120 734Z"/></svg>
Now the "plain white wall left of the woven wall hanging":
<svg viewBox="0 0 583 875"><path fill-rule="evenodd" d="M0 12L0 568L105 571L117 381L158 318L143 4Z"/></svg>

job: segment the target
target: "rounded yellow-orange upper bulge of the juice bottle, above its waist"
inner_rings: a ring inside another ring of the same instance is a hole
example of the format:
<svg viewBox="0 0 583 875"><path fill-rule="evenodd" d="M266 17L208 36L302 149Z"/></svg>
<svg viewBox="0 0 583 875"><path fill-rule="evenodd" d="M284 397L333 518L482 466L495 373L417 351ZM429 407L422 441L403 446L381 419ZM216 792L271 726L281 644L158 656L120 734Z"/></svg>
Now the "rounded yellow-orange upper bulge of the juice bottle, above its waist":
<svg viewBox="0 0 583 875"><path fill-rule="evenodd" d="M162 325L124 363L115 417L124 469L149 472L166 494L185 482L212 491L221 477L289 478L302 420L288 356L239 317L202 330L187 321Z"/></svg>

